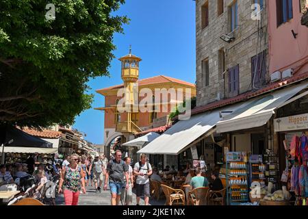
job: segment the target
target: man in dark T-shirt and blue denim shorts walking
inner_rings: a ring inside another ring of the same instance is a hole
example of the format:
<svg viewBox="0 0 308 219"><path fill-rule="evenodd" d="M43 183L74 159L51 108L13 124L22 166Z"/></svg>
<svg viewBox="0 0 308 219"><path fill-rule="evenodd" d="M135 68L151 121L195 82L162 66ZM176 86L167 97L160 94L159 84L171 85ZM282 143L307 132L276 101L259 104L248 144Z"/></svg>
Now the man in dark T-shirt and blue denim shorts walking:
<svg viewBox="0 0 308 219"><path fill-rule="evenodd" d="M107 182L109 179L109 186L111 192L111 204L118 205L120 202L120 195L122 192L122 188L128 190L129 184L125 183L124 177L126 182L129 182L129 174L128 170L129 167L125 162L121 159L122 152L117 150L115 153L115 159L110 160L109 164L107 165L107 172L105 177L105 185L104 190L107 190Z"/></svg>

